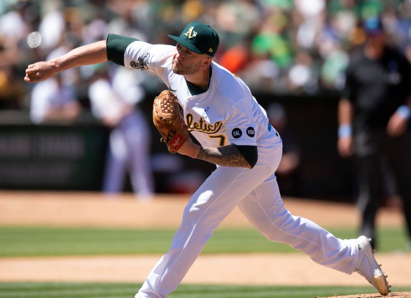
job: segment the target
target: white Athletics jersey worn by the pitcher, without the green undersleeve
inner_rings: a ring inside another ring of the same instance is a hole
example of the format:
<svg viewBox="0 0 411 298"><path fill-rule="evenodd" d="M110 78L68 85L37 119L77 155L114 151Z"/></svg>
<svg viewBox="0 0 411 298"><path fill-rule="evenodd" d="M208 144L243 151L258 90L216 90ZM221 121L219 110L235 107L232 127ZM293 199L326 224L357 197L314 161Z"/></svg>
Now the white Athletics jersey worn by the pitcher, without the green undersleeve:
<svg viewBox="0 0 411 298"><path fill-rule="evenodd" d="M227 69L212 62L209 89L192 95L183 76L172 70L174 46L130 43L124 52L124 66L148 70L159 76L177 96L185 123L205 147L236 145L268 146L271 126L266 111L250 89Z"/></svg>

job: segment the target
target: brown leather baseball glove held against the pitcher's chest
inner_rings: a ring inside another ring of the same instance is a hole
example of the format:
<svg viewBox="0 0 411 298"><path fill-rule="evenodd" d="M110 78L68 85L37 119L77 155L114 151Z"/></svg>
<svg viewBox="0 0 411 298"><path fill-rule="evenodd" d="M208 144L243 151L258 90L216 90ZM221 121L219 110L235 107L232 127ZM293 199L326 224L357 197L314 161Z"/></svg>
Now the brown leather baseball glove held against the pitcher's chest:
<svg viewBox="0 0 411 298"><path fill-rule="evenodd" d="M170 90L154 99L153 122L171 153L176 153L189 138L177 97Z"/></svg>

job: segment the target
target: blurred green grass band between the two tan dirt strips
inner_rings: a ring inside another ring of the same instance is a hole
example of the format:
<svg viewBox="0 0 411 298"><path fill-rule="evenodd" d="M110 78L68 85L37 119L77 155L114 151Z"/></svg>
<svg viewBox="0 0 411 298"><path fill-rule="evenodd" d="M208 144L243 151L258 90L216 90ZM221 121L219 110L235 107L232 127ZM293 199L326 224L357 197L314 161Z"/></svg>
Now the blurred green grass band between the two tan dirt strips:
<svg viewBox="0 0 411 298"><path fill-rule="evenodd" d="M59 255L162 254L174 230L102 228L0 227L0 257ZM340 238L356 237L354 230L331 230ZM403 251L404 229L379 231L378 252ZM256 230L217 229L203 253L296 252L272 243Z"/></svg>

